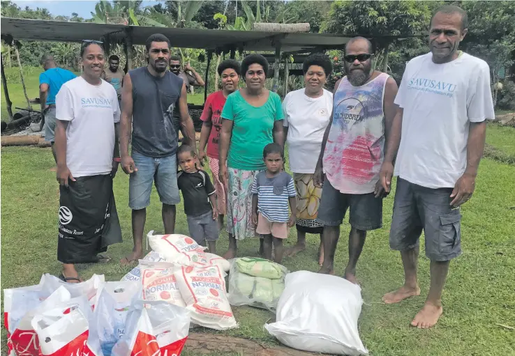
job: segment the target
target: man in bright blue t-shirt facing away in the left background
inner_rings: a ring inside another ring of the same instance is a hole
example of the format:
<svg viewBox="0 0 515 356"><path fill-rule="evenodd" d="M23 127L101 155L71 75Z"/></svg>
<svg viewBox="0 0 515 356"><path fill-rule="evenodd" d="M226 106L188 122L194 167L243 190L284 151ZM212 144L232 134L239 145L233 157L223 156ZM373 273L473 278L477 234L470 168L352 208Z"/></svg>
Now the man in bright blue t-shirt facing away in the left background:
<svg viewBox="0 0 515 356"><path fill-rule="evenodd" d="M41 117L45 120L45 141L52 145L52 155L57 163L54 147L55 132L55 96L61 90L61 86L74 79L76 75L69 70L58 68L52 54L43 54L41 64L45 72L39 75L39 100L41 105Z"/></svg>

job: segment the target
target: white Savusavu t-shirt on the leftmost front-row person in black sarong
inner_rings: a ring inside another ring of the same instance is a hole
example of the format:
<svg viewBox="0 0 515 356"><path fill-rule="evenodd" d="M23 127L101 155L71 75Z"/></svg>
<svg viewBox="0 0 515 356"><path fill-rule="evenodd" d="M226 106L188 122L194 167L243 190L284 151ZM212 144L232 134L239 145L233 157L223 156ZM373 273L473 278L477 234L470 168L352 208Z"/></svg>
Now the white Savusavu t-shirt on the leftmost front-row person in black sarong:
<svg viewBox="0 0 515 356"><path fill-rule="evenodd" d="M114 150L114 123L120 121L117 91L102 80L82 77L66 82L56 97L56 118L66 128L66 165L74 178L109 174Z"/></svg>

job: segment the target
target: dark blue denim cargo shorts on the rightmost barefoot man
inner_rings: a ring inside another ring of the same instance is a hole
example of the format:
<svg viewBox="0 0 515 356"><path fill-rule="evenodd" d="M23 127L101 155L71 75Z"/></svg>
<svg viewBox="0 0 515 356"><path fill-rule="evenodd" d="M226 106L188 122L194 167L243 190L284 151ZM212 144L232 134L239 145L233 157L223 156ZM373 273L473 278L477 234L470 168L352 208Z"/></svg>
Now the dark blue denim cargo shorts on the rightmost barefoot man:
<svg viewBox="0 0 515 356"><path fill-rule="evenodd" d="M424 230L426 256L431 261L461 255L461 212L451 207L451 193L452 188L431 189L397 178L390 248L417 247Z"/></svg>

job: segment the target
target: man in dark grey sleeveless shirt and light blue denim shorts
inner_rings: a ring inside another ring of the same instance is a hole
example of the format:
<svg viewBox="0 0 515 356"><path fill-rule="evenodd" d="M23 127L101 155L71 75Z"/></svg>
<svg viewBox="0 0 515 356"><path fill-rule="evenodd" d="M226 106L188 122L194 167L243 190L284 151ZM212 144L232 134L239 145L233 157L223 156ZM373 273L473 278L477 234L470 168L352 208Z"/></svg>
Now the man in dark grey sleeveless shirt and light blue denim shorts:
<svg viewBox="0 0 515 356"><path fill-rule="evenodd" d="M137 262L143 257L143 231L153 182L163 203L165 233L174 233L175 206L180 202L174 111L179 111L185 136L183 143L196 147L186 86L182 79L167 71L170 41L156 33L147 39L146 47L149 64L126 74L121 93L121 166L130 174L129 207L133 210L134 239L133 251L122 258L122 264ZM132 151L129 153L131 129Z"/></svg>

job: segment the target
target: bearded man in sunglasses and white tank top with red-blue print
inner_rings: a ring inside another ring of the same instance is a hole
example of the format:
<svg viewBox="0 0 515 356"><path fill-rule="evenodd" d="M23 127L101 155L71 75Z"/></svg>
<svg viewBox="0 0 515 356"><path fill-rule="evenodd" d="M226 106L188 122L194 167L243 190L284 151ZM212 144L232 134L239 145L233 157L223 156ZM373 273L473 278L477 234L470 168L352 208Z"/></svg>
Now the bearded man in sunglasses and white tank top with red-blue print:
<svg viewBox="0 0 515 356"><path fill-rule="evenodd" d="M372 53L371 42L362 37L352 38L345 47L346 76L334 87L333 114L313 177L315 185L324 185L318 210L318 221L324 224L320 272L333 273L340 225L350 210L349 261L344 277L354 284L366 232L382 226L386 194L379 171L396 114L397 84L386 73L373 70Z"/></svg>

